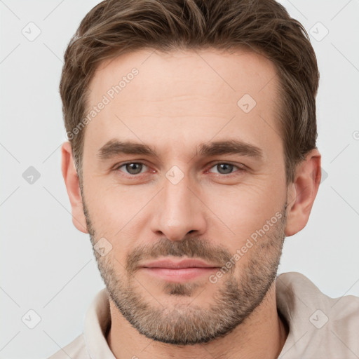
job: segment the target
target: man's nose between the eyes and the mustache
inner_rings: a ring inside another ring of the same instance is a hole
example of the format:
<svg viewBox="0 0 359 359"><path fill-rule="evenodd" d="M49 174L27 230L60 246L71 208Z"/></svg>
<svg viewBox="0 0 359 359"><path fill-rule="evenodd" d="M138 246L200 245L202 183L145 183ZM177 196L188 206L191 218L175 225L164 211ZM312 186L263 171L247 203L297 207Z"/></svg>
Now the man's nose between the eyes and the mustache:
<svg viewBox="0 0 359 359"><path fill-rule="evenodd" d="M151 230L170 241L181 241L185 236L200 236L206 230L205 205L201 202L188 175L177 184L167 178L156 196Z"/></svg>

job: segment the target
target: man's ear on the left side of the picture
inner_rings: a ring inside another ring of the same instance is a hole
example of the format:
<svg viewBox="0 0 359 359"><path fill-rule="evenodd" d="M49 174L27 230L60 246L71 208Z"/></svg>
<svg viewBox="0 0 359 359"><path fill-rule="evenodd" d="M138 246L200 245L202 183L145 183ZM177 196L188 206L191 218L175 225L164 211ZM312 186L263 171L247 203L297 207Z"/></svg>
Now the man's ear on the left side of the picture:
<svg viewBox="0 0 359 359"><path fill-rule="evenodd" d="M86 217L83 213L79 177L76 172L74 159L72 158L72 147L69 142L62 144L61 156L62 176L65 180L67 195L72 207L72 223L79 231L88 233Z"/></svg>

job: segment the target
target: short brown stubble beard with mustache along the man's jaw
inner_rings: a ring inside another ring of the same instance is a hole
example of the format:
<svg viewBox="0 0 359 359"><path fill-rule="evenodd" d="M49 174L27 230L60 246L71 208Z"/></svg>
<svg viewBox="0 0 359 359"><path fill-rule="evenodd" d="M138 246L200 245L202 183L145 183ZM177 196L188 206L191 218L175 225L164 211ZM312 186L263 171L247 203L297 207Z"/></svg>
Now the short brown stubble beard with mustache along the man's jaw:
<svg viewBox="0 0 359 359"><path fill-rule="evenodd" d="M84 198L83 208L91 243L94 245L100 238L96 236ZM225 248L209 247L205 241L193 237L176 242L161 238L156 245L137 248L128 254L126 265L120 265L113 253L102 257L94 250L109 297L122 316L149 339L185 346L224 337L241 325L262 303L276 279L285 238L286 208L285 203L282 217L245 254L248 255L248 261L243 262L245 265L241 264L240 259L217 283L208 281L207 285L217 285L210 306L203 308L194 304L196 296L203 291L196 282L163 283L163 292L170 298L166 300L166 305L161 305L161 301L151 295L150 288L144 289L146 283L139 283L135 278L136 264L140 259L175 255L225 264L233 257ZM116 261L117 267L125 267L125 273L116 273ZM238 273L235 273L235 269ZM184 301L184 298L193 300ZM171 301L173 304L169 305Z"/></svg>

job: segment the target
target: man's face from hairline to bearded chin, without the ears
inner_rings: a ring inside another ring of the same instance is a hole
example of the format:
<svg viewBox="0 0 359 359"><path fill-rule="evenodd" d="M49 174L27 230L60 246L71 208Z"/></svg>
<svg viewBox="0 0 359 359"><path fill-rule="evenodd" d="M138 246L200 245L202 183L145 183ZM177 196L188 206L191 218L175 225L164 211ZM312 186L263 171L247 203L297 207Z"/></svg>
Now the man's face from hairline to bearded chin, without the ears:
<svg viewBox="0 0 359 359"><path fill-rule="evenodd" d="M147 337L209 341L273 290L287 201L277 86L274 65L245 50L141 50L95 73L88 109L106 103L84 138L88 231L111 300ZM144 268L189 258L212 268Z"/></svg>

